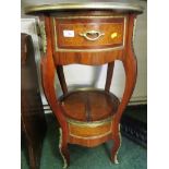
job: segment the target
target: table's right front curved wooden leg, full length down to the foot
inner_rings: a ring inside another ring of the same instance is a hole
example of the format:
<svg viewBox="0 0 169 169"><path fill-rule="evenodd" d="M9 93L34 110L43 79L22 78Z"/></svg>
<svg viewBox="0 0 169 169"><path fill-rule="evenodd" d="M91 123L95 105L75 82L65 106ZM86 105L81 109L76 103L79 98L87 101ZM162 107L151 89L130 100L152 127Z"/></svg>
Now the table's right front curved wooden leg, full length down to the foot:
<svg viewBox="0 0 169 169"><path fill-rule="evenodd" d="M128 48L125 51L125 58L122 60L123 68L125 71L125 88L124 88L123 97L121 99L121 104L119 105L118 111L114 116L113 123L112 123L113 124L112 138L114 140L114 146L112 147L112 150L111 150L111 160L114 161L114 164L118 162L117 154L121 144L121 134L120 134L120 128L119 128L121 116L133 94L135 83L136 83L136 76L137 76L137 62L133 51L133 44L132 44L133 24L134 24L134 16L132 16L129 21L129 25L131 26L129 29L129 41L128 41Z"/></svg>

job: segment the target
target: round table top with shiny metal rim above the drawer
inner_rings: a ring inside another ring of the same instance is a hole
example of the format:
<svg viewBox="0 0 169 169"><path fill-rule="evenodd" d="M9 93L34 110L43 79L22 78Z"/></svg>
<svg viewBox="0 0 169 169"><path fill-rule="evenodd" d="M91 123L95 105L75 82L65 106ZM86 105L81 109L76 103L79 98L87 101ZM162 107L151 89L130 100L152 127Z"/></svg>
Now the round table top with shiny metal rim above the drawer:
<svg viewBox="0 0 169 169"><path fill-rule="evenodd" d="M77 10L112 10L122 13L142 13L143 8L130 1L112 2L76 2L76 3L52 3L29 5L25 8L26 14L52 13L57 11L77 11Z"/></svg>

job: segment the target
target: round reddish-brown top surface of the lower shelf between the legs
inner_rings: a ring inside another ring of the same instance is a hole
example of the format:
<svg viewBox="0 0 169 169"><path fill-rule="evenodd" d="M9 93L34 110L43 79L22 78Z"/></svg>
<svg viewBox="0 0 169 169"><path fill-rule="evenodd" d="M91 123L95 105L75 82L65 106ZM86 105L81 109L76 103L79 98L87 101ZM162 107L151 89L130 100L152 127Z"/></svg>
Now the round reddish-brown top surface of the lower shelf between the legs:
<svg viewBox="0 0 169 169"><path fill-rule="evenodd" d="M71 92L60 101L70 121L88 123L111 119L119 106L119 99L105 90Z"/></svg>

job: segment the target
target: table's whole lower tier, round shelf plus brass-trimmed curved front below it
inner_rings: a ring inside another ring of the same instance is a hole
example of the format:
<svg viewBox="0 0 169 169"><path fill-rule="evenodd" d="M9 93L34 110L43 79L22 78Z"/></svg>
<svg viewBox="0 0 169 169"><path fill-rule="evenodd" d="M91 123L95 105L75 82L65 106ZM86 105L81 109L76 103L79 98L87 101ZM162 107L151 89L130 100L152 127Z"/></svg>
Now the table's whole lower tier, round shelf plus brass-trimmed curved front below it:
<svg viewBox="0 0 169 169"><path fill-rule="evenodd" d="M61 97L69 142L90 147L110 140L119 102L113 94L105 90L77 90Z"/></svg>

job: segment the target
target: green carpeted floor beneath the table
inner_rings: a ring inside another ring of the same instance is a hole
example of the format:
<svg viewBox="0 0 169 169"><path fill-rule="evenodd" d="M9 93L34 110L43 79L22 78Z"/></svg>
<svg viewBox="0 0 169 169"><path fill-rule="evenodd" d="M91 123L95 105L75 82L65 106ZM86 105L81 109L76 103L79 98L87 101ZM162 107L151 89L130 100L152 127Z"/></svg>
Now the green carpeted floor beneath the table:
<svg viewBox="0 0 169 169"><path fill-rule="evenodd" d="M48 131L44 141L40 169L62 169L62 158L58 150L59 131L52 116L47 118ZM69 169L146 169L147 150L134 142L122 136L119 150L119 165L111 164L109 152L112 142L94 148L70 145L71 165ZM21 168L28 169L25 149L21 153Z"/></svg>

